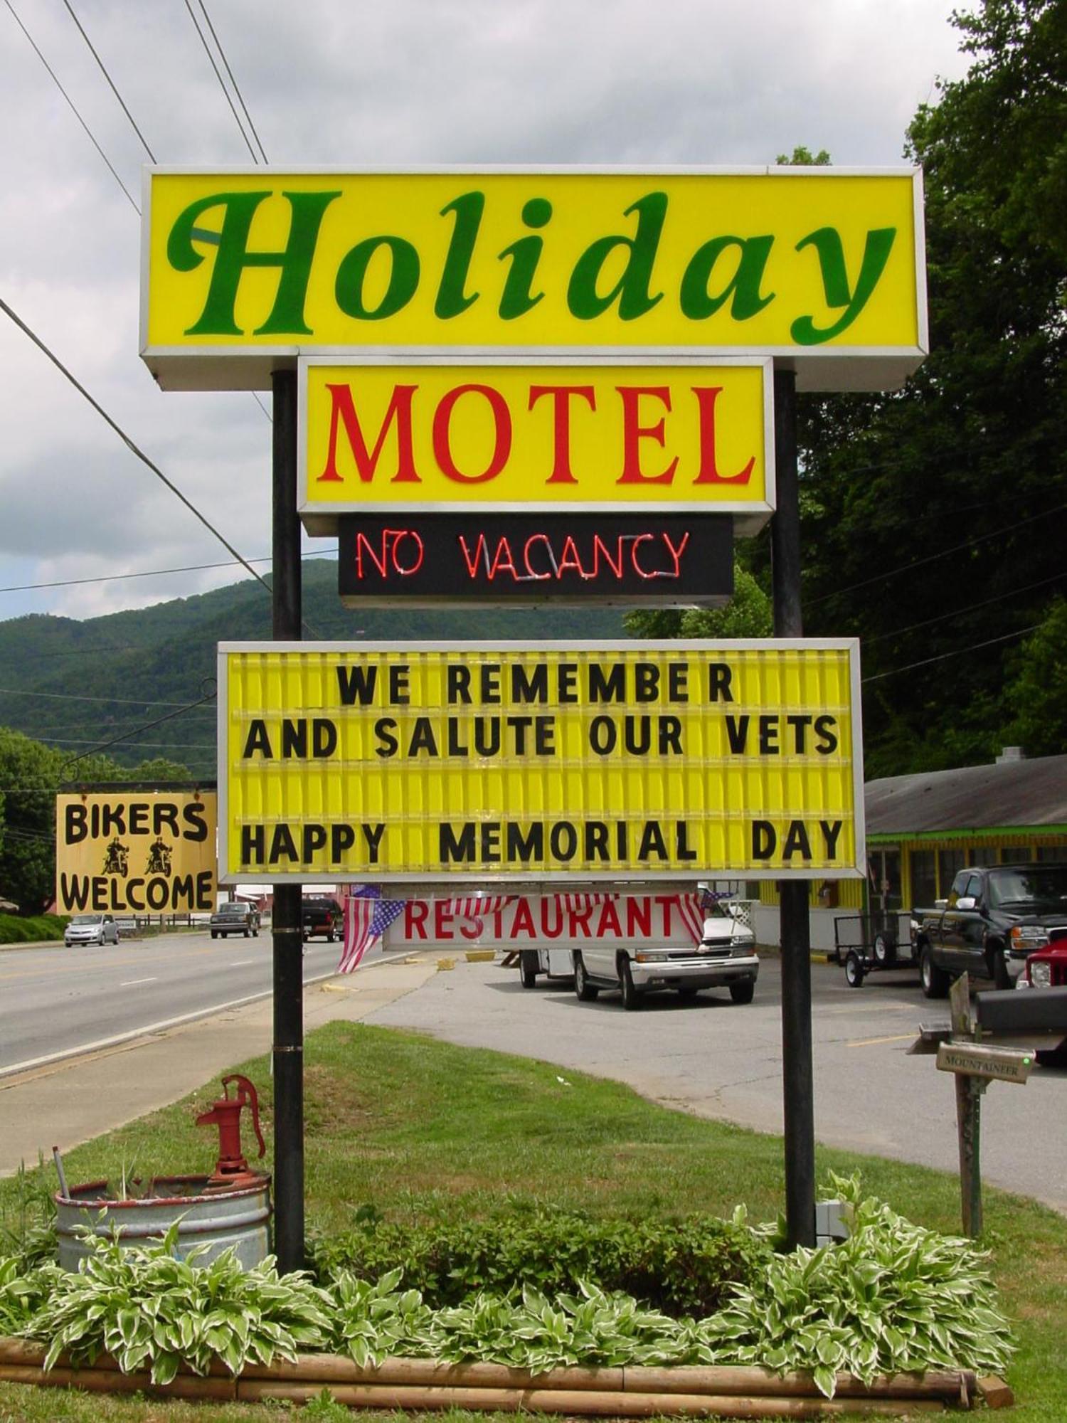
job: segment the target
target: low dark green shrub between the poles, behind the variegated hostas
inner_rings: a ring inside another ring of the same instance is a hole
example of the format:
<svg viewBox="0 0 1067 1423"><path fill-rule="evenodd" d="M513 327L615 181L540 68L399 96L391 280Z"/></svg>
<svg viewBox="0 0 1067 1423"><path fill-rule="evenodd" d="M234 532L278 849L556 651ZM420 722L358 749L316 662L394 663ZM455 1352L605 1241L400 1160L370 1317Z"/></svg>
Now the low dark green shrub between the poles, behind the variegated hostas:
<svg viewBox="0 0 1067 1423"><path fill-rule="evenodd" d="M431 1308L479 1291L575 1294L589 1281L677 1318L718 1309L731 1286L765 1268L770 1245L740 1221L713 1215L627 1221L561 1211L431 1225L371 1217L312 1254L322 1284L340 1271L376 1281L400 1269Z"/></svg>

